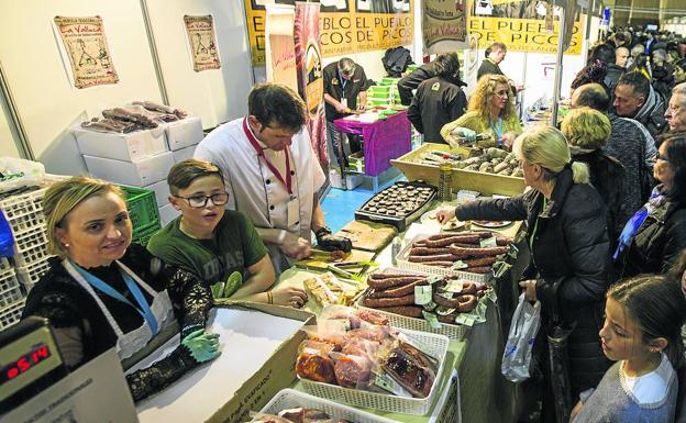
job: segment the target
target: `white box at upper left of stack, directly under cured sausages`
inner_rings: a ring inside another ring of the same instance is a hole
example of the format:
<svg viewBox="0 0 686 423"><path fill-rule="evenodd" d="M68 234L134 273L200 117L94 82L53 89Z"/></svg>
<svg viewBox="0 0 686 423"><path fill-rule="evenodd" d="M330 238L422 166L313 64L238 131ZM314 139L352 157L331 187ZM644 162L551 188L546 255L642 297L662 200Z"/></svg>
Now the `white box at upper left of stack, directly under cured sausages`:
<svg viewBox="0 0 686 423"><path fill-rule="evenodd" d="M88 156L137 162L168 151L164 127L114 134L76 126L71 133L81 154Z"/></svg>

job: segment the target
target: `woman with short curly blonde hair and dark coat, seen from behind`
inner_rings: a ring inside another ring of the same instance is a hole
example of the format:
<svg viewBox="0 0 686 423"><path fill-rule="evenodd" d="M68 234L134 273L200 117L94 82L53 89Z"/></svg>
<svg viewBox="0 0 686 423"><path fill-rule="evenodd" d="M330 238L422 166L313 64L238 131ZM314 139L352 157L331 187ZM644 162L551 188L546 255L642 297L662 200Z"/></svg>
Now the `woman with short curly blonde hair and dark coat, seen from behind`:
<svg viewBox="0 0 686 423"><path fill-rule="evenodd" d="M590 183L605 201L608 232L610 240L615 241L632 212L624 201L631 194L624 167L601 149L610 138L611 131L612 125L605 113L590 108L574 109L562 122L562 133L567 138L574 160L588 166Z"/></svg>

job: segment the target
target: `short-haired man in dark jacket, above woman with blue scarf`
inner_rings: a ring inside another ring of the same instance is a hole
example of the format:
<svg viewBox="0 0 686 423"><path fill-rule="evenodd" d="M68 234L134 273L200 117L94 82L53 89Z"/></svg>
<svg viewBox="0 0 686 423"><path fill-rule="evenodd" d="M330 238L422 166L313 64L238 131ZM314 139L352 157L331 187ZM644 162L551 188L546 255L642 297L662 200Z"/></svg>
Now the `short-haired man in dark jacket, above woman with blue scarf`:
<svg viewBox="0 0 686 423"><path fill-rule="evenodd" d="M667 130L665 103L640 71L622 75L615 88L612 105L618 115L641 122L653 138Z"/></svg>

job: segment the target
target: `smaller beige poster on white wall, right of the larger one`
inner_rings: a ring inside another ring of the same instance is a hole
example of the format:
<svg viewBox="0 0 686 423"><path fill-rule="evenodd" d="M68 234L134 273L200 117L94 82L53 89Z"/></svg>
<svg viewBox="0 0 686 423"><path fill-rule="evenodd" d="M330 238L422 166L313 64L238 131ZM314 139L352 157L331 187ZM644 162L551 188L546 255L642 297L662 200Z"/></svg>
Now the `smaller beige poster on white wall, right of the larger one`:
<svg viewBox="0 0 686 423"><path fill-rule="evenodd" d="M188 35L188 45L190 48L190 56L192 57L193 70L198 73L221 68L212 15L184 15L184 24L186 25L186 34Z"/></svg>

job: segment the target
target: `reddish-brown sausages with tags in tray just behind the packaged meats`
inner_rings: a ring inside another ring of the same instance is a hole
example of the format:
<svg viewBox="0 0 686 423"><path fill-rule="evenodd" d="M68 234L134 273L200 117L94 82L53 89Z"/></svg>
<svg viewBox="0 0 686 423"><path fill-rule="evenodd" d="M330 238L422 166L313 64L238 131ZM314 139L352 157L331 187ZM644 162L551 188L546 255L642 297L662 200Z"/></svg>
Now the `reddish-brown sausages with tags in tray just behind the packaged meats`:
<svg viewBox="0 0 686 423"><path fill-rule="evenodd" d="M488 267L488 269L490 269ZM458 313L474 310L478 299L488 288L485 283L458 281L454 277L422 276L416 274L372 274L362 305L399 314L407 318L423 318L423 311L436 313L439 321L455 323ZM433 280L432 280L433 279ZM414 288L432 286L432 303L418 305Z"/></svg>

